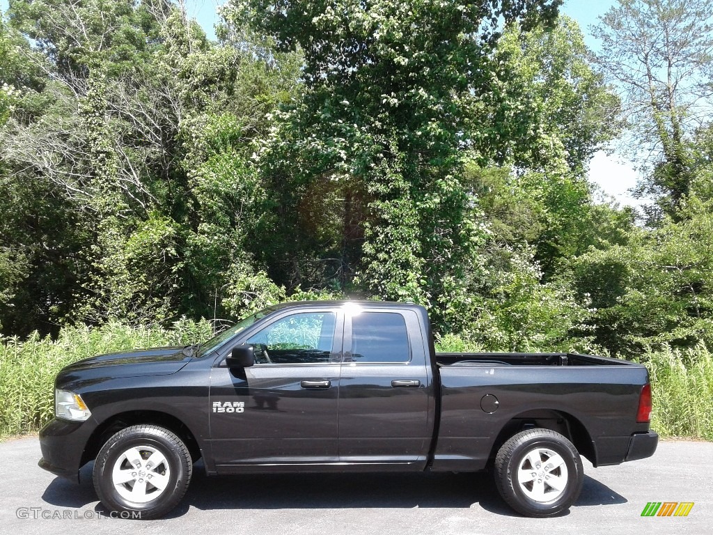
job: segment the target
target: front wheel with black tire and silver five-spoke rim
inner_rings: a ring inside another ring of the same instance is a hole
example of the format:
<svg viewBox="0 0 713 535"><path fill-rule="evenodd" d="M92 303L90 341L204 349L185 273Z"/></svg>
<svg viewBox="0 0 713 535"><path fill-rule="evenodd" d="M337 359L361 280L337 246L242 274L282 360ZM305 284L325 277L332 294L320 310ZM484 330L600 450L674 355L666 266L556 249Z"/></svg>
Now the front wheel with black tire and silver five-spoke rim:
<svg viewBox="0 0 713 535"><path fill-rule="evenodd" d="M140 466L134 467L130 458ZM151 459L157 461L153 467ZM192 473L183 440L163 427L134 425L114 434L101 448L94 462L94 489L101 503L121 518L155 519L178 505ZM122 483L125 477L135 479Z"/></svg>

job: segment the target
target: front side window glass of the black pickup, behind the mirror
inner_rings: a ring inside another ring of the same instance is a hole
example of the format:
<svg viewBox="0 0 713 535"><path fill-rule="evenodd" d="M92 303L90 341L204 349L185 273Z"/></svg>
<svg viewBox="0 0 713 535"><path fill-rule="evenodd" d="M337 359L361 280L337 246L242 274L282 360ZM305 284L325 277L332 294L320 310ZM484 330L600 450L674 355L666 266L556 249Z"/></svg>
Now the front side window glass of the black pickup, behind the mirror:
<svg viewBox="0 0 713 535"><path fill-rule="evenodd" d="M329 362L336 319L334 312L302 312L277 320L247 340L255 364Z"/></svg>

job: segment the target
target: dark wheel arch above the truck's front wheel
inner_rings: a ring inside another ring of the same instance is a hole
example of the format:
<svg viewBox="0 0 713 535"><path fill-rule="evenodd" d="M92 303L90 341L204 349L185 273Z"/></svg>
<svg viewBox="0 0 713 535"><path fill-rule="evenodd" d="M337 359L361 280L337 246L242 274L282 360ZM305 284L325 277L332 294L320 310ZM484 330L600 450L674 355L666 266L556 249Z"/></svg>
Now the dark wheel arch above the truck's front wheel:
<svg viewBox="0 0 713 535"><path fill-rule="evenodd" d="M80 466L96 459L99 450L106 441L121 429L138 424L157 425L175 433L183 442L193 462L202 457L202 452L195 434L180 419L167 412L153 410L132 410L120 412L102 422L89 437L82 454Z"/></svg>

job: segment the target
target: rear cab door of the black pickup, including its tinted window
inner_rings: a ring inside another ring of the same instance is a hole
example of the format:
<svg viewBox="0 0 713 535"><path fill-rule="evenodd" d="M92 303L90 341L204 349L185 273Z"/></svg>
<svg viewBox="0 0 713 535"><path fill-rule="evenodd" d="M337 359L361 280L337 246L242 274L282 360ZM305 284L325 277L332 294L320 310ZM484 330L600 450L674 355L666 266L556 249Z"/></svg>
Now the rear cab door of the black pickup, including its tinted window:
<svg viewBox="0 0 713 535"><path fill-rule="evenodd" d="M414 310L354 307L344 319L339 383L339 460L425 462L434 388L426 334Z"/></svg>

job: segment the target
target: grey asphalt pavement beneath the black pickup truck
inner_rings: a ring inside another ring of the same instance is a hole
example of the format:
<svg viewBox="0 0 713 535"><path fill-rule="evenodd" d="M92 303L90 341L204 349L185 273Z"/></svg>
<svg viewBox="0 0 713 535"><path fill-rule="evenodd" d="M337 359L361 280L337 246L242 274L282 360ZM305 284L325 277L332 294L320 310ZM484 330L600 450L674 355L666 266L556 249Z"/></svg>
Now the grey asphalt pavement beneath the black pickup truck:
<svg viewBox="0 0 713 535"><path fill-rule="evenodd" d="M489 474L291 474L206 477L153 521L113 519L98 504L92 464L79 485L37 467L36 437L0 443L0 533L710 534L713 443L661 442L650 459L594 469L577 503L550 519L518 516ZM647 502L694 502L688 516L641 516Z"/></svg>

